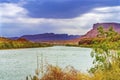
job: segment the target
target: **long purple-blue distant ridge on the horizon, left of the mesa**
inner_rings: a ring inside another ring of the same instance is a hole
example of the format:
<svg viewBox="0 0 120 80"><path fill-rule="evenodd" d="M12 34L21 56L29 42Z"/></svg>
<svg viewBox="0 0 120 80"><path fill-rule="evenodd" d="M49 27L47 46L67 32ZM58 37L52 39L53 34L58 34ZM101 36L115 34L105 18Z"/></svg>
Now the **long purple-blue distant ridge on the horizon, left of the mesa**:
<svg viewBox="0 0 120 80"><path fill-rule="evenodd" d="M11 39L24 38L33 42L48 42L48 41L72 40L79 37L80 35L44 33L44 34L35 34L35 35L23 35L21 37L13 37Z"/></svg>

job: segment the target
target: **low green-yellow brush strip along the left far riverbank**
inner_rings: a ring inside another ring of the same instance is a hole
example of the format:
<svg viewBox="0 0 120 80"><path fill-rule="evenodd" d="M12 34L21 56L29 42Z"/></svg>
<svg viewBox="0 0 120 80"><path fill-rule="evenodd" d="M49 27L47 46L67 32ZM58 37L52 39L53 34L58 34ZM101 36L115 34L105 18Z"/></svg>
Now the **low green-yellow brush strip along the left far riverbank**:
<svg viewBox="0 0 120 80"><path fill-rule="evenodd" d="M51 47L52 44L33 43L33 42L1 42L0 50L5 49L24 49L24 48L41 48Z"/></svg>

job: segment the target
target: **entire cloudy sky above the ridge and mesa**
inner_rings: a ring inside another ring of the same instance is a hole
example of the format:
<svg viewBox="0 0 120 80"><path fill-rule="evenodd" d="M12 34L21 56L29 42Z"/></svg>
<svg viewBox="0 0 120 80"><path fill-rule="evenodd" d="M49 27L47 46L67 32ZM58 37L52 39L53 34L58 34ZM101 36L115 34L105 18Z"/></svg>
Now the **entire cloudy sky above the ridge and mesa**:
<svg viewBox="0 0 120 80"><path fill-rule="evenodd" d="M93 24L120 23L120 0L0 0L0 36L83 35Z"/></svg>

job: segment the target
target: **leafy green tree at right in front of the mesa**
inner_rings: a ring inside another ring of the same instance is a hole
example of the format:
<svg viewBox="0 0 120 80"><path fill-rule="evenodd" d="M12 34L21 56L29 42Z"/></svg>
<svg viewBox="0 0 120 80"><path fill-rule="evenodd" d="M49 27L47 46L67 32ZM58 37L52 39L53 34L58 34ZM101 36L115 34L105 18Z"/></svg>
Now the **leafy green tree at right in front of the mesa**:
<svg viewBox="0 0 120 80"><path fill-rule="evenodd" d="M119 49L118 42L113 42L113 39L117 35L113 27L110 27L108 31L105 31L103 27L98 27L98 35L104 37L104 41L96 43L91 52L91 56L94 58L94 67L91 68L91 72L96 70L109 70L112 68L114 61L119 60L117 49Z"/></svg>

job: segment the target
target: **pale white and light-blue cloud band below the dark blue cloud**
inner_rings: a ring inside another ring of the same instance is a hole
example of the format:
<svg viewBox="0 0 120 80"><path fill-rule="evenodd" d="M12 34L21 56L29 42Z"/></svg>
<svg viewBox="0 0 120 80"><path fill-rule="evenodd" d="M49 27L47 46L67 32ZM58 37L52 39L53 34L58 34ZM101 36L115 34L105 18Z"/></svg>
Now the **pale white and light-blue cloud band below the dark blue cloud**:
<svg viewBox="0 0 120 80"><path fill-rule="evenodd" d="M11 3L1 3L0 13L4 36L46 32L85 34L94 23L120 21L120 6L94 8L72 19L31 18L25 8Z"/></svg>

